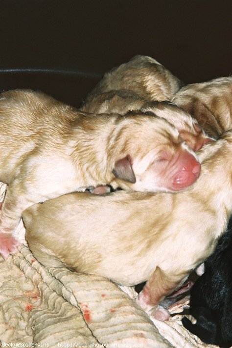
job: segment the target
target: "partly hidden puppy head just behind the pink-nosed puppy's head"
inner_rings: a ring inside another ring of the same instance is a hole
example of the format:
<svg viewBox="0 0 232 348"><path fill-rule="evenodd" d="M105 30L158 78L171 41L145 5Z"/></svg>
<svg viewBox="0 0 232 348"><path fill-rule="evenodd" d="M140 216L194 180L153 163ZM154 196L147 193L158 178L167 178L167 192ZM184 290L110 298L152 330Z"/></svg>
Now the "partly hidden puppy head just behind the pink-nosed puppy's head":
<svg viewBox="0 0 232 348"><path fill-rule="evenodd" d="M214 138L207 135L189 113L171 102L148 103L142 107L142 111L154 113L168 120L179 130L181 137L193 151L197 151L205 144L214 141Z"/></svg>

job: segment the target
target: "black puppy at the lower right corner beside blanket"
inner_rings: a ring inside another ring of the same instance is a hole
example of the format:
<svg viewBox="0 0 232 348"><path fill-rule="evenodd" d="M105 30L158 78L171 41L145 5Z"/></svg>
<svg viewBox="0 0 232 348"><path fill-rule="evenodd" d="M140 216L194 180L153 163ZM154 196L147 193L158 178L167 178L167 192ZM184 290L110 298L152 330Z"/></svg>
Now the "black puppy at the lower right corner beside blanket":
<svg viewBox="0 0 232 348"><path fill-rule="evenodd" d="M190 291L189 313L195 324L183 325L207 344L232 346L232 217L214 253L205 262L205 273Z"/></svg>

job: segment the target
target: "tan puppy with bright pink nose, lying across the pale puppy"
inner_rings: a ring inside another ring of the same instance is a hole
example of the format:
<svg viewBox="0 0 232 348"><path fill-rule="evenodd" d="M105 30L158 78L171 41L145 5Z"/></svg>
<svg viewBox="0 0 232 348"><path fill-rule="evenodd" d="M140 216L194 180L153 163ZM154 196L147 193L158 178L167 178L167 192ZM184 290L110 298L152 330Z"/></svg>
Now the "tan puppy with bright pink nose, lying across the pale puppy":
<svg viewBox="0 0 232 348"><path fill-rule="evenodd" d="M92 115L40 92L0 95L0 248L16 251L11 232L24 209L86 187L178 191L198 178L200 164L163 118L132 113Z"/></svg>

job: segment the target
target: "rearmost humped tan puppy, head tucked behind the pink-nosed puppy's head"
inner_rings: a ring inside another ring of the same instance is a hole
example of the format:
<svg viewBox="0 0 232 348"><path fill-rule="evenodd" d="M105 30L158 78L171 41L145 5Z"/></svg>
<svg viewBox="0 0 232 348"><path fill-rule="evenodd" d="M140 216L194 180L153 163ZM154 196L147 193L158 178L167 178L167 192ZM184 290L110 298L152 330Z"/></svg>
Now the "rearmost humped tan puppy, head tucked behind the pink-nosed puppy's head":
<svg viewBox="0 0 232 348"><path fill-rule="evenodd" d="M155 59L137 55L106 73L89 93L81 110L122 115L139 110L156 114L175 125L188 146L197 151L212 137L189 113L168 102L182 86L183 82Z"/></svg>

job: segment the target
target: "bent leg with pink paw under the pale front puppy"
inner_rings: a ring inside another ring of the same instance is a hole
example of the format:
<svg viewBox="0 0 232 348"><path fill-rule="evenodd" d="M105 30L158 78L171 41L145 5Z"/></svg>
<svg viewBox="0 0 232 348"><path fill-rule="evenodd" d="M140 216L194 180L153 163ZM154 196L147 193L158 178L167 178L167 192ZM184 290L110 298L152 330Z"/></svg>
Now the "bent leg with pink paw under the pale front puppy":
<svg viewBox="0 0 232 348"><path fill-rule="evenodd" d="M159 303L181 283L183 277L173 280L160 267L157 266L152 276L137 297L137 302L151 317L160 321L168 320L170 315Z"/></svg>

